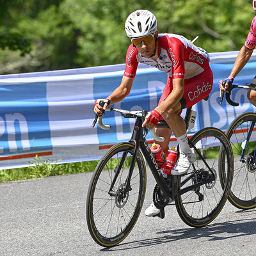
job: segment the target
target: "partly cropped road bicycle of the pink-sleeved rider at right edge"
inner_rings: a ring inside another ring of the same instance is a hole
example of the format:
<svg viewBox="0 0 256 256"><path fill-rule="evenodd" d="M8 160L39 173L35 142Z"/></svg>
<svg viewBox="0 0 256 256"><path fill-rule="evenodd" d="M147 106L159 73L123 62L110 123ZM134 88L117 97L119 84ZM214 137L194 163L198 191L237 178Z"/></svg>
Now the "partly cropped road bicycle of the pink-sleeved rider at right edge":
<svg viewBox="0 0 256 256"><path fill-rule="evenodd" d="M256 84L228 86L227 102L236 107L239 106L239 103L230 99L231 91L234 88L256 90ZM224 92L221 93L221 104L223 96ZM255 122L256 113L243 113L228 125L225 132L234 154L234 178L228 200L232 205L244 210L256 206L256 144L253 139L256 137Z"/></svg>

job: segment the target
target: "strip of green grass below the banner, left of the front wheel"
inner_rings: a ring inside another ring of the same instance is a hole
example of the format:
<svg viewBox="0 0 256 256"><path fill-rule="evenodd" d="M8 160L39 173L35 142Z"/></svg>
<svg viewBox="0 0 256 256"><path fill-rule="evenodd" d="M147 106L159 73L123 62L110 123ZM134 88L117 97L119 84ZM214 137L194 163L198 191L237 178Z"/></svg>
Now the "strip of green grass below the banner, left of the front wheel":
<svg viewBox="0 0 256 256"><path fill-rule="evenodd" d="M58 164L51 161L42 162L41 157L35 158L35 164L24 168L0 170L0 182L28 180L48 176L67 175L72 173L93 172L99 161Z"/></svg>

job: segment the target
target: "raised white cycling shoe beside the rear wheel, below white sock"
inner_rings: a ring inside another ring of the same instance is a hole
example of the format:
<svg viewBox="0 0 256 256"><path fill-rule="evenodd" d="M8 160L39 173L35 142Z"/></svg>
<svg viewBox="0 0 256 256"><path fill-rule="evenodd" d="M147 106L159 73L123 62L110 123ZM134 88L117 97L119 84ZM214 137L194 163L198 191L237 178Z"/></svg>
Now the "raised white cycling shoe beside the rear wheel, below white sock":
<svg viewBox="0 0 256 256"><path fill-rule="evenodd" d="M177 165L172 169L172 175L183 175L186 174L192 163L196 161L196 154L193 150L191 153L185 154L180 152L180 157Z"/></svg>

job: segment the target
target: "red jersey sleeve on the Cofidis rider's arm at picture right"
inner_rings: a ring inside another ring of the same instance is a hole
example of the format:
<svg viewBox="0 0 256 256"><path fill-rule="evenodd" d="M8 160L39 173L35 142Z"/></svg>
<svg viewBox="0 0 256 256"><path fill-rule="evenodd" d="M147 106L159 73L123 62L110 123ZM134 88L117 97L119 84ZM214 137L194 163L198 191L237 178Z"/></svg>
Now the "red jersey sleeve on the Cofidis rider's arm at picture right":
<svg viewBox="0 0 256 256"><path fill-rule="evenodd" d="M172 38L172 46L169 49L170 59L172 60L172 74L173 79L184 78L185 65L184 65L184 44L177 39Z"/></svg>

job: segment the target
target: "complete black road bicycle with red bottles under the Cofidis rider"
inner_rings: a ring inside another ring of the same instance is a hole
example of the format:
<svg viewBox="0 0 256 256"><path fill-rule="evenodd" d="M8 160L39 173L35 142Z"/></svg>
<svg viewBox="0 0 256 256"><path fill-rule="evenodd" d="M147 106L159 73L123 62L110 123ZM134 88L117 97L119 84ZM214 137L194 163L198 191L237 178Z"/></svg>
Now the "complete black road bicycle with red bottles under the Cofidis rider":
<svg viewBox="0 0 256 256"><path fill-rule="evenodd" d="M145 198L145 161L156 180L153 200L162 212L161 218L164 217L164 207L172 200L180 218L191 227L204 227L218 216L230 191L234 161L230 143L220 129L208 127L196 132L189 139L196 161L186 175L168 175L165 179L150 152L146 140L148 129L142 127L147 111L109 107L106 110L136 120L131 140L109 149L95 168L88 187L86 221L97 244L115 246L134 227ZM109 129L109 125L102 123L102 116L98 118L99 126ZM187 127L190 116L191 108L188 108L184 118ZM150 132L155 141L164 140L156 136L154 129Z"/></svg>

